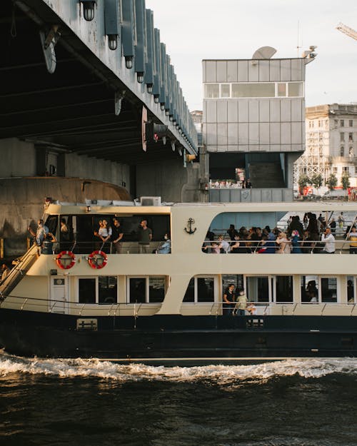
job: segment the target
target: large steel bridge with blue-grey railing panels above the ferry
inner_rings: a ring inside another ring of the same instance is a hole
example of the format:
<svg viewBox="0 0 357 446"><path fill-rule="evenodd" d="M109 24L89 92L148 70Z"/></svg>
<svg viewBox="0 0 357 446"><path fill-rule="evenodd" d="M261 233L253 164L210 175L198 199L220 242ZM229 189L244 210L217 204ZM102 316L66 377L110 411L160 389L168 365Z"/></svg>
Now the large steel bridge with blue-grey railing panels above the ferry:
<svg viewBox="0 0 357 446"><path fill-rule="evenodd" d="M0 39L5 213L53 191L69 200L76 177L76 200L101 181L122 189L116 199L194 201L196 128L145 0L3 0ZM44 186L48 177L56 182ZM11 228L23 233L30 216Z"/></svg>

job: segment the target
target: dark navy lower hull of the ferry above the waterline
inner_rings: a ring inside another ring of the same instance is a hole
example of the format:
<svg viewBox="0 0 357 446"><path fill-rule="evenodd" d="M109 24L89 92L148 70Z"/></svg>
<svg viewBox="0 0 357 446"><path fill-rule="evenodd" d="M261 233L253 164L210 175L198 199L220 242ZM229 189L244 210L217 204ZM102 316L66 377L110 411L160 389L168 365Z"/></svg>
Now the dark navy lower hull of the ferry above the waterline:
<svg viewBox="0 0 357 446"><path fill-rule="evenodd" d="M357 355L357 330L348 316L80 318L94 319L95 328L78 328L74 315L0 309L0 345L22 356L163 364Z"/></svg>

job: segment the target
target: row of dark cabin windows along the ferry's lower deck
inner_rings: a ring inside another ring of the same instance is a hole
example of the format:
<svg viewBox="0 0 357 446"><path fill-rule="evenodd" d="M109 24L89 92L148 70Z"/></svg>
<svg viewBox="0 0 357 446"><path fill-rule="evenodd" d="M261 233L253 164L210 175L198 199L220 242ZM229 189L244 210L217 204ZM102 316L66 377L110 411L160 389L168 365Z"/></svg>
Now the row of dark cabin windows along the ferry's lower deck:
<svg viewBox="0 0 357 446"><path fill-rule="evenodd" d="M338 280L336 277L318 275L301 276L302 303L337 303ZM347 277L348 303L356 303L357 277ZM223 275L223 290L233 283L236 290L244 288L247 298L256 303L293 303L293 276L243 276ZM110 305L118 301L117 278L100 276L79 278L79 303ZM128 303L161 303L166 293L166 277L128 278ZM196 276L188 283L183 303L214 303L215 278Z"/></svg>

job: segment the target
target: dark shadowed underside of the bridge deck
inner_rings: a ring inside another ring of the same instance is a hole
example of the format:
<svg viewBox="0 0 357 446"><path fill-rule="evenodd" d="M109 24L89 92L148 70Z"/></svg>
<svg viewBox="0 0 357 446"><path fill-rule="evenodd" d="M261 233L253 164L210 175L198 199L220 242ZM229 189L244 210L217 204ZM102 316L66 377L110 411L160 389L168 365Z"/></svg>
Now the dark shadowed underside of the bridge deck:
<svg viewBox="0 0 357 446"><path fill-rule="evenodd" d="M26 3L29 4L29 1ZM56 44L56 70L46 69L39 30L10 0L1 2L0 139L19 138L128 165L178 158L161 141L141 143L142 103L66 26ZM58 18L36 5L46 23ZM125 91L119 116L115 91Z"/></svg>

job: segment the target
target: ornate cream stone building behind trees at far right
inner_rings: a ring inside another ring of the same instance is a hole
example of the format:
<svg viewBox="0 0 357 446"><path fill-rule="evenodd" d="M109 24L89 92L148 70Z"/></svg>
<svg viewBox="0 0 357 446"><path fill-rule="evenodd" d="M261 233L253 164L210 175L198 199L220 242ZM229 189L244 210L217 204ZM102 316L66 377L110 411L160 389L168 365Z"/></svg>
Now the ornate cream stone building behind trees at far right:
<svg viewBox="0 0 357 446"><path fill-rule="evenodd" d="M357 103L306 108L306 151L296 161L296 184L301 176L321 175L323 186L331 174L348 175L357 186Z"/></svg>

